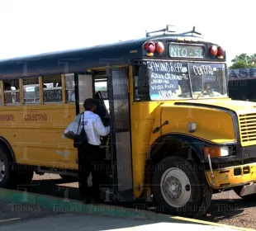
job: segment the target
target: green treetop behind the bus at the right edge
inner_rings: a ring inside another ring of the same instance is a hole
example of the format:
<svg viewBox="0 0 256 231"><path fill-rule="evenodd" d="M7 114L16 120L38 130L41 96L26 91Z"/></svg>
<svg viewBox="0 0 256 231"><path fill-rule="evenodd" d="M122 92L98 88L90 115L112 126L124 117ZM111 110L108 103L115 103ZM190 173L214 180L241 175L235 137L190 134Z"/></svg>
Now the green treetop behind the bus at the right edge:
<svg viewBox="0 0 256 231"><path fill-rule="evenodd" d="M233 63L230 66L230 69L235 68L255 68L256 67L256 54L248 55L246 53L242 53L239 55L235 55L235 58L231 60Z"/></svg>

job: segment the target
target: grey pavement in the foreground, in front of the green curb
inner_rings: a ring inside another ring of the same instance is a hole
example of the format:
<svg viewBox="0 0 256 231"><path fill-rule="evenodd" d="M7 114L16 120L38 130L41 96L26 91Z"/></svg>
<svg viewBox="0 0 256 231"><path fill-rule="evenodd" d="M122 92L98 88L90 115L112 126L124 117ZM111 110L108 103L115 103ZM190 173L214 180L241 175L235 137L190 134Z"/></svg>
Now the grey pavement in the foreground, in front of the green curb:
<svg viewBox="0 0 256 231"><path fill-rule="evenodd" d="M147 219L123 219L88 214L60 214L39 206L7 204L0 201L0 230L235 230L211 225L159 223Z"/></svg>

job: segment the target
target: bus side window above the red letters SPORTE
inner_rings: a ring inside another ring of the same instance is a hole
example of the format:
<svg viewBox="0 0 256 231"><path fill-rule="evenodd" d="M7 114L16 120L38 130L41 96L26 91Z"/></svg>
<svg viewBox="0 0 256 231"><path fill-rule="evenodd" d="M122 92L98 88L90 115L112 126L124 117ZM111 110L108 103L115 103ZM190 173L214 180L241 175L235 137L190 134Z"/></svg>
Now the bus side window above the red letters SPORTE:
<svg viewBox="0 0 256 231"><path fill-rule="evenodd" d="M5 80L3 87L5 105L19 105L21 101L19 79Z"/></svg>

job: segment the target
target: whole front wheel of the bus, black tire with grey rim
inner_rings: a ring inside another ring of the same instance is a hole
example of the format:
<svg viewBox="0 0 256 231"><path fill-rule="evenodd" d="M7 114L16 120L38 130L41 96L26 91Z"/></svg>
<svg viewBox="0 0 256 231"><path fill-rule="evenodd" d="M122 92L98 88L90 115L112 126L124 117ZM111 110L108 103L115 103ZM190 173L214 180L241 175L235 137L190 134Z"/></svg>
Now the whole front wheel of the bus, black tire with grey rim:
<svg viewBox="0 0 256 231"><path fill-rule="evenodd" d="M199 163L173 156L164 158L157 166L152 191L164 213L192 218L206 212L212 189Z"/></svg>

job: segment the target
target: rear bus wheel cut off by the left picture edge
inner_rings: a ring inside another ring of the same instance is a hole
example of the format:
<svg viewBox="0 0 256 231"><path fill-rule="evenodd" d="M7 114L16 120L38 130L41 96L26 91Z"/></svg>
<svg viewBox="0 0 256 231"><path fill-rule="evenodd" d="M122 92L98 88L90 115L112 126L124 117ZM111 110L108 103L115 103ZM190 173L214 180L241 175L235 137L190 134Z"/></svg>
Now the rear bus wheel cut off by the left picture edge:
<svg viewBox="0 0 256 231"><path fill-rule="evenodd" d="M17 172L12 170L12 158L7 148L0 144L0 187L15 189Z"/></svg>

